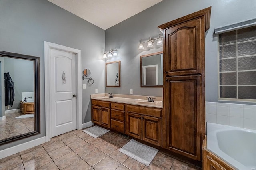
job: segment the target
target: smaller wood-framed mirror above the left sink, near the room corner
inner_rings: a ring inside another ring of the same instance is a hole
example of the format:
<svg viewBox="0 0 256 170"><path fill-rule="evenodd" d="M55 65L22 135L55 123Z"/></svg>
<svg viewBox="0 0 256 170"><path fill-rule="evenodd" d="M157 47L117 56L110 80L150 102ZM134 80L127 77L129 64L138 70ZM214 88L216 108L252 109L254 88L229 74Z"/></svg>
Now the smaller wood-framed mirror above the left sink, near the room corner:
<svg viewBox="0 0 256 170"><path fill-rule="evenodd" d="M106 87L121 87L120 70L121 61L106 63Z"/></svg>

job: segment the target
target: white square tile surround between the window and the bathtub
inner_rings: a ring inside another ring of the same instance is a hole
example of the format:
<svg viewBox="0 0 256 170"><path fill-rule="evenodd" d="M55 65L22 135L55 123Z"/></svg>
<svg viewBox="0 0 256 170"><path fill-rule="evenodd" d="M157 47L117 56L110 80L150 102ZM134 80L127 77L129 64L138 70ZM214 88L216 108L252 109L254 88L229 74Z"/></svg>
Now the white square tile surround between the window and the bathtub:
<svg viewBox="0 0 256 170"><path fill-rule="evenodd" d="M256 105L205 102L206 121L256 129Z"/></svg>

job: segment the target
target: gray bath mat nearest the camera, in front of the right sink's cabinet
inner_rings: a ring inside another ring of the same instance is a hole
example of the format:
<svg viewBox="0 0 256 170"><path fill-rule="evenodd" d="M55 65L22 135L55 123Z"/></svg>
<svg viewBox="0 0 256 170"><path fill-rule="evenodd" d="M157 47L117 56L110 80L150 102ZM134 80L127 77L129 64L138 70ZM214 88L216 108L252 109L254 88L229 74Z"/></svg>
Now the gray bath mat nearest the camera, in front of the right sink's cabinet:
<svg viewBox="0 0 256 170"><path fill-rule="evenodd" d="M138 162L149 166L150 162L156 156L158 149L152 148L132 139L121 149L119 149L119 151L137 160Z"/></svg>

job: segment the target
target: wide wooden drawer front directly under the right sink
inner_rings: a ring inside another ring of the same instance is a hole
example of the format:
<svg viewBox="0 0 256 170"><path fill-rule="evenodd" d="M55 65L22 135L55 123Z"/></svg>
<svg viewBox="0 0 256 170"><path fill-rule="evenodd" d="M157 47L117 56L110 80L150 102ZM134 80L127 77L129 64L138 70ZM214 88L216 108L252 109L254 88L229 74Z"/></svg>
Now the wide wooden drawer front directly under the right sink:
<svg viewBox="0 0 256 170"><path fill-rule="evenodd" d="M162 109L156 109L153 107L143 107L143 106L135 106L135 105L126 105L127 112L130 113L138 113L142 115L161 117Z"/></svg>

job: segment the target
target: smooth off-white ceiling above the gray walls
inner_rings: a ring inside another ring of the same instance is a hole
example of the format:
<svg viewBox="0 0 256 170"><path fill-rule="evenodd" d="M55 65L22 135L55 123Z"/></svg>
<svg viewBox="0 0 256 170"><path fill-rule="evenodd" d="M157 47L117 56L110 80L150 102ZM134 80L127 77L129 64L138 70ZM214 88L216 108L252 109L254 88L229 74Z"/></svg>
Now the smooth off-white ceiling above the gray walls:
<svg viewBox="0 0 256 170"><path fill-rule="evenodd" d="M162 0L48 0L106 30Z"/></svg>

